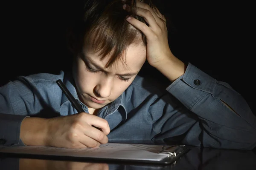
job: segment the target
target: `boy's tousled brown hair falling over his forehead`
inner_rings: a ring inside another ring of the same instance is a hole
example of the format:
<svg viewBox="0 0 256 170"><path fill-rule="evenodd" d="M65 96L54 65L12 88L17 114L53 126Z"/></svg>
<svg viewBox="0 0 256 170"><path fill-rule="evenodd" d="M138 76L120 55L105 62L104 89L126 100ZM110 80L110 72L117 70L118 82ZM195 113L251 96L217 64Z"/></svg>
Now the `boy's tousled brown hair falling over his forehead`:
<svg viewBox="0 0 256 170"><path fill-rule="evenodd" d="M140 1L156 10L151 0ZM124 4L131 7L129 12L123 9ZM75 32L73 30L73 38L69 39L72 52L81 54L84 43L90 42L101 60L110 56L106 68L116 61L125 62L122 54L128 46L141 42L146 46L145 35L126 21L127 16L132 16L147 24L143 17L136 15L136 4L136 0L86 0L82 18Z"/></svg>

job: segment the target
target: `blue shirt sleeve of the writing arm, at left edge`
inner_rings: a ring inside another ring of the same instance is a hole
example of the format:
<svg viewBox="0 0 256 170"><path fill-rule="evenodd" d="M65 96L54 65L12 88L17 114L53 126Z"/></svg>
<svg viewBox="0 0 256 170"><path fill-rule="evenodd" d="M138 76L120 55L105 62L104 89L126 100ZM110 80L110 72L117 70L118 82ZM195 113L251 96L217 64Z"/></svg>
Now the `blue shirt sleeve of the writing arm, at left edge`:
<svg viewBox="0 0 256 170"><path fill-rule="evenodd" d="M41 109L32 90L33 81L25 77L19 79L0 87L0 146L24 146L20 139L21 122L29 113Z"/></svg>

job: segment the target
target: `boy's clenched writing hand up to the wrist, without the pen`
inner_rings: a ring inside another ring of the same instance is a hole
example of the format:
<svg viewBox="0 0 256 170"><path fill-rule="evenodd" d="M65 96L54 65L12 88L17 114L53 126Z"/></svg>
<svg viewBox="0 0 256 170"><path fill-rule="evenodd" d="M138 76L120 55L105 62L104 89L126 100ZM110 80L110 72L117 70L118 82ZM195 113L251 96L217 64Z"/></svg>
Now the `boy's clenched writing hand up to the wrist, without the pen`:
<svg viewBox="0 0 256 170"><path fill-rule="evenodd" d="M47 146L52 147L98 147L108 142L110 133L108 121L84 112L51 118L48 128Z"/></svg>

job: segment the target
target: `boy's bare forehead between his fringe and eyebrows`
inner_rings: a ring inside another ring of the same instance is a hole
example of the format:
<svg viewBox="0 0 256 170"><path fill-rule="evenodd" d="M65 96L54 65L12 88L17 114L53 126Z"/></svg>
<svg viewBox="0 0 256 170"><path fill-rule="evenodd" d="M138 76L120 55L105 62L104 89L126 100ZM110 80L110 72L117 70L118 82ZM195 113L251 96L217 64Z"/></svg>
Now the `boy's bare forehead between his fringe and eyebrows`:
<svg viewBox="0 0 256 170"><path fill-rule="evenodd" d="M104 59L101 61L101 57L99 52L95 52L90 45L84 46L84 57L89 61L93 61L98 65L105 67L108 63L111 54L104 56ZM114 69L114 70L131 70L131 71L139 71L140 67L143 65L146 59L146 49L143 43L141 44L131 44L121 56L119 56L119 60L116 60L113 63L113 66L107 69Z"/></svg>

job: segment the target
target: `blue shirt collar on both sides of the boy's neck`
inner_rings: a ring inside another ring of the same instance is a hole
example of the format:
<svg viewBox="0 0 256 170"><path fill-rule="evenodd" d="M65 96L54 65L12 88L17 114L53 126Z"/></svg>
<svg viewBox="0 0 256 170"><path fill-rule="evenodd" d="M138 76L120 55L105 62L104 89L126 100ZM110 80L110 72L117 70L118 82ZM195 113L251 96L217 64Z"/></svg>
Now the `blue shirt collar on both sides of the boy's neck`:
<svg viewBox="0 0 256 170"><path fill-rule="evenodd" d="M79 101L79 104L84 105L78 97L78 94L76 92L76 86L75 86L75 81L72 77L71 73L68 74L64 74L64 79L63 79L63 83L64 85L67 87L67 89L70 91L70 93L73 95L73 97ZM65 102L70 102L69 99L67 98L67 96L62 93L61 96L61 106L62 104L64 104ZM122 119L123 121L125 121L127 119L127 111L125 109L125 92L123 92L115 101L111 102L110 104L108 104L105 107L102 107L99 112L102 112L104 110L106 110L106 115L111 115L113 114L117 109L120 109L119 112L122 115ZM120 108L122 107L122 108ZM87 107L86 107L87 108Z"/></svg>

